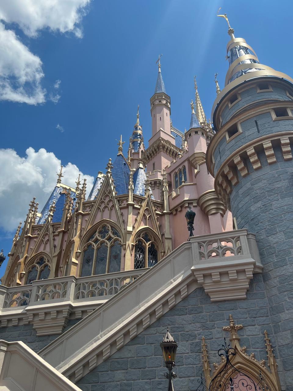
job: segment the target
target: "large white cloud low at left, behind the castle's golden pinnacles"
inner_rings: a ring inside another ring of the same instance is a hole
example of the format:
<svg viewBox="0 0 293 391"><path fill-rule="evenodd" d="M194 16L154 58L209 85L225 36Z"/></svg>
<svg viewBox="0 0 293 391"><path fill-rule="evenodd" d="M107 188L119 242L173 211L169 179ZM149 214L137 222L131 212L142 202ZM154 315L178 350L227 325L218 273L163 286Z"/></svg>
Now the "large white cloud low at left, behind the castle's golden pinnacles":
<svg viewBox="0 0 293 391"><path fill-rule="evenodd" d="M0 149L1 182L0 187L0 227L5 231L14 231L20 221L24 221L32 197L39 203L39 211L45 205L53 191L61 161L53 152L44 148L35 151L26 150L22 158L13 149ZM75 164L68 163L63 168L63 183L75 187L78 175L87 179L90 192L94 178L84 175Z"/></svg>

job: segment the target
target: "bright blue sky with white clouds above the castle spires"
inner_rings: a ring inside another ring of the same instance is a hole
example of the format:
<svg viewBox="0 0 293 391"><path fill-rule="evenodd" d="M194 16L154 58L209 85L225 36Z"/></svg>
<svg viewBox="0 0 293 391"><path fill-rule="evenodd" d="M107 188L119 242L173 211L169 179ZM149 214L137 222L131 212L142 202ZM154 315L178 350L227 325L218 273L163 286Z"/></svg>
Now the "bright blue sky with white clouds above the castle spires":
<svg viewBox="0 0 293 391"><path fill-rule="evenodd" d="M261 63L292 76L292 2L281 1L276 7L272 0L71 1L85 7L77 10L76 21L71 20L68 28L56 24L58 16L46 14L53 11L43 10L44 21L39 22L27 13L18 15L20 0L11 0L9 10L0 5L5 29L14 32L34 56L36 72L32 68L32 73L39 79L25 84L26 93L32 96L38 88L38 99L43 101L12 102L0 93L0 248L5 255L11 249L19 220L25 219L30 199L39 195L43 207L54 187L59 160L67 165L65 183L67 179L73 185L78 172L88 175L90 183L90 176L105 171L109 157L115 158L120 134L125 146L128 144L138 104L145 140L150 138L149 100L159 53L163 53L162 74L171 96L174 126L184 131L189 125L195 74L205 113L211 117L216 97L214 73L218 72L222 89L228 69L225 50L229 36L225 20L216 17L219 7L228 14L235 36L247 40ZM35 15L38 1L26 2ZM66 10L63 17L66 20ZM77 19L80 23L75 23ZM1 45L5 39L0 36L0 54ZM5 60L5 51L2 57ZM15 56L4 63L5 75L0 61L0 89L3 78L15 88L13 72L10 75L7 68L20 68L18 61L21 59ZM40 149L45 151L38 153ZM4 270L5 264L0 275Z"/></svg>

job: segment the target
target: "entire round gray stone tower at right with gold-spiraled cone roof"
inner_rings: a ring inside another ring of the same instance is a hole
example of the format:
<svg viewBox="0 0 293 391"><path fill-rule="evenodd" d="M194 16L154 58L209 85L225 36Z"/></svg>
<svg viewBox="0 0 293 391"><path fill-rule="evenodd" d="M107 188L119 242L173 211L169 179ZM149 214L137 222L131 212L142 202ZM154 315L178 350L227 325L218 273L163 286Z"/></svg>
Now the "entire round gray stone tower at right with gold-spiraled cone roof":
<svg viewBox="0 0 293 391"><path fill-rule="evenodd" d="M219 16L228 22L226 14ZM212 110L216 134L207 149L207 165L237 228L256 235L270 303L263 316L270 316L290 377L293 344L288 340L285 353L281 336L293 329L293 79L260 64L230 25L228 34L229 69Z"/></svg>

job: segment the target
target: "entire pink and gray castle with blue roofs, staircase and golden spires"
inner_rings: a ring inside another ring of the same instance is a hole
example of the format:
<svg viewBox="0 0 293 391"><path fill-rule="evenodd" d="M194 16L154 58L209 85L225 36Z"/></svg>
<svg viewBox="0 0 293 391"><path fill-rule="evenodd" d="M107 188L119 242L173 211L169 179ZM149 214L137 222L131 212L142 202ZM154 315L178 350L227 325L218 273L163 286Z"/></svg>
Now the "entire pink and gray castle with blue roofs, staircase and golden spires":
<svg viewBox="0 0 293 391"><path fill-rule="evenodd" d="M87 198L61 167L41 212L31 201L0 286L0 389L165 390L168 325L175 390L220 376L224 337L257 389L293 390L293 79L220 16L213 126L196 79L189 129L173 126L159 57L148 147L138 107L127 153L121 136Z"/></svg>

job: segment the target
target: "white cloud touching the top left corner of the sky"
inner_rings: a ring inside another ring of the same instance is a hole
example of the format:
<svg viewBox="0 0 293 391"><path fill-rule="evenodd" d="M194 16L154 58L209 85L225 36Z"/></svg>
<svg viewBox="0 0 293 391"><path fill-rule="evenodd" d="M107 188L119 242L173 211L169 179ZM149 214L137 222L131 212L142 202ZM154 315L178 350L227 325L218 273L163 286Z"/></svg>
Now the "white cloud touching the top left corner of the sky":
<svg viewBox="0 0 293 391"><path fill-rule="evenodd" d="M31 37L38 31L73 32L82 37L79 23L86 14L85 7L91 0L8 0L0 2L0 19L17 23Z"/></svg>

